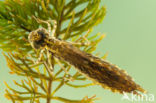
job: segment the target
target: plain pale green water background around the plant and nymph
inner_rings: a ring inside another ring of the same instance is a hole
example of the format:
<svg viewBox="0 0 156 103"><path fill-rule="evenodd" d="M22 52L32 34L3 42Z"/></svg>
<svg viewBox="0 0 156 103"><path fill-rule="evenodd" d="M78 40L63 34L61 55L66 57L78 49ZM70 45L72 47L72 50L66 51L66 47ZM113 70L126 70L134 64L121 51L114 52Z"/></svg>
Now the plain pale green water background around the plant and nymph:
<svg viewBox="0 0 156 103"><path fill-rule="evenodd" d="M108 61L126 70L149 94L156 95L156 0L101 0L101 5L106 6L107 14L92 34L101 32L106 37L98 45L96 52L100 52L101 56L108 53ZM0 71L0 103L11 103L4 97L4 81L16 88L12 80L18 81L22 77L9 74L1 53ZM121 100L123 95L112 93L98 85L80 89L64 86L57 93L72 99L95 94L100 98L95 103L140 102Z"/></svg>

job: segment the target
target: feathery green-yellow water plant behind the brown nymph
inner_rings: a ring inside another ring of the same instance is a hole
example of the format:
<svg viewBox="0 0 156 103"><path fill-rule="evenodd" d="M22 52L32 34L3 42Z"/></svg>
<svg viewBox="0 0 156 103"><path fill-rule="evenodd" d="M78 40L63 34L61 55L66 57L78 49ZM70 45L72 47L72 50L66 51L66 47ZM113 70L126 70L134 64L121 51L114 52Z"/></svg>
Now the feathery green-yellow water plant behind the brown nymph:
<svg viewBox="0 0 156 103"><path fill-rule="evenodd" d="M12 88L5 82L7 86L5 97L13 103L24 101L40 103L42 99L47 103L52 100L65 103L92 103L96 100L95 96L82 97L81 100L55 96L64 85L85 88L94 84L85 84L85 82L81 85L75 84L75 81L85 81L86 78L76 71L68 74L72 66L65 61L58 62L51 56L50 60L54 67L52 75L47 70L50 64L46 53L43 58L44 63L35 64L39 52L31 47L28 34L39 27L47 28L47 25L37 23L33 16L41 20L56 20L56 38L75 43L86 43L88 39L90 45L77 45L77 47L92 53L104 37L100 33L90 35L93 27L105 16L106 10L104 7L99 7L99 4L100 0L0 1L0 48L4 51L10 74L25 77L21 82L14 81L20 90ZM58 85L54 85L55 82Z"/></svg>

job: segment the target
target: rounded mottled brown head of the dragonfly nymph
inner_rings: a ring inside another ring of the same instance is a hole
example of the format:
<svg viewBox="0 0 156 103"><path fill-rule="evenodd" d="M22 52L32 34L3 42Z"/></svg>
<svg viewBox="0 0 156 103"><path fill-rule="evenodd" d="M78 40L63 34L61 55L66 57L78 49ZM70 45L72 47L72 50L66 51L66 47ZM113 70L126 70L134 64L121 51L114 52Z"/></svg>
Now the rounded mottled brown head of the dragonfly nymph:
<svg viewBox="0 0 156 103"><path fill-rule="evenodd" d="M44 48L46 45L45 39L47 38L49 38L49 34L44 28L34 30L28 36L28 40L34 49Z"/></svg>

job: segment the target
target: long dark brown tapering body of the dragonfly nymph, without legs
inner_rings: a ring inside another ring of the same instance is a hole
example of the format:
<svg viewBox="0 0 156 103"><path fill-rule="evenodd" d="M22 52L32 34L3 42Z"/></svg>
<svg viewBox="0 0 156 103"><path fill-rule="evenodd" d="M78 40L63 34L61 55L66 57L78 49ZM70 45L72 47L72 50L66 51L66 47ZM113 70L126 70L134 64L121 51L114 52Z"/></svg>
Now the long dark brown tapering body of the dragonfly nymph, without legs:
<svg viewBox="0 0 156 103"><path fill-rule="evenodd" d="M35 33L46 34L44 30L40 30L40 32L42 33ZM33 36L33 33L31 33L31 36ZM56 38L45 37L44 39L42 38L41 44L38 45L42 45L42 48L46 48L52 52L55 57L67 61L75 66L83 75L113 92L145 92L127 73L120 70L117 66L83 52L71 43Z"/></svg>

